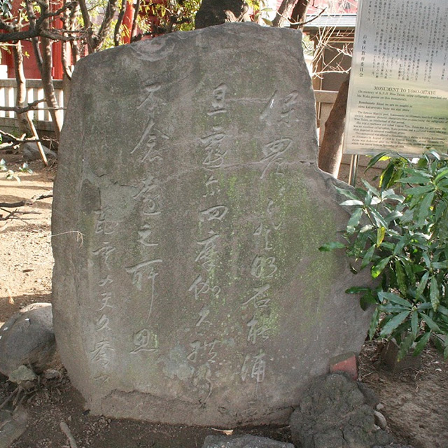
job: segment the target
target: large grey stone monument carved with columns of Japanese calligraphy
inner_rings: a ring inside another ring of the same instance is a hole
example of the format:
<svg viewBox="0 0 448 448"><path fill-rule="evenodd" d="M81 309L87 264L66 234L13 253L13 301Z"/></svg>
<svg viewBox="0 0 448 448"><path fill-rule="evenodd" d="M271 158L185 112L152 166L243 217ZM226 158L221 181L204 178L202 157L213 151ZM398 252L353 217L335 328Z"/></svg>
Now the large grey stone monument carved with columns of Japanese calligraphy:
<svg viewBox="0 0 448 448"><path fill-rule="evenodd" d="M76 65L53 210L54 326L92 412L286 421L359 351L347 214L316 167L300 31L232 24ZM358 280L358 283L362 279Z"/></svg>

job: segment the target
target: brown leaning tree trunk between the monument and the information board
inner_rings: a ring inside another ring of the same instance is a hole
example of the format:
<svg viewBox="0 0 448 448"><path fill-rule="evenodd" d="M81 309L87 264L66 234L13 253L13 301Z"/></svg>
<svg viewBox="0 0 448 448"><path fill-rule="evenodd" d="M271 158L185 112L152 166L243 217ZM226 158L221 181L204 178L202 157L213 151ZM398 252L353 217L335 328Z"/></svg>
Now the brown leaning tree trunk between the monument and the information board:
<svg viewBox="0 0 448 448"><path fill-rule="evenodd" d="M325 123L321 149L318 156L319 168L337 178L342 158L342 136L344 135L347 98L349 96L348 73L339 88L336 101L331 109L330 116Z"/></svg>

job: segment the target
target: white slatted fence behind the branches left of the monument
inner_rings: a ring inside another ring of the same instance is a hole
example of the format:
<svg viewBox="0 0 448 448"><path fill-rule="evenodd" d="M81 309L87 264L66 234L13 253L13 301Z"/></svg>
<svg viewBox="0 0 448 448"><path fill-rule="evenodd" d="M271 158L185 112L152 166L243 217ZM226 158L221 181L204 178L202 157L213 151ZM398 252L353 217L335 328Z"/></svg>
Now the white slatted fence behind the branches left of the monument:
<svg viewBox="0 0 448 448"><path fill-rule="evenodd" d="M64 106L64 93L62 92L62 80L54 80L55 92L59 107ZM15 79L0 79L0 106L14 107L17 95ZM27 79L27 102L32 103L37 99L43 99L43 88L40 79ZM52 123L48 106L41 102L38 109L30 112L31 118L37 130L52 131ZM15 112L0 111L0 127L13 130L17 128Z"/></svg>

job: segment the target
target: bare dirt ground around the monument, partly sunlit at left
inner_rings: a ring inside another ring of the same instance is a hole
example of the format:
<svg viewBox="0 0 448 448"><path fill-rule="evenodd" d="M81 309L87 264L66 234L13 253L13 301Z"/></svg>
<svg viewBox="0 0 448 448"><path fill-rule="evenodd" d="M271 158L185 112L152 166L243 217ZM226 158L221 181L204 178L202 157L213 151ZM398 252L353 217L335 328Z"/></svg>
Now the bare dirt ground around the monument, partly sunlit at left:
<svg viewBox="0 0 448 448"><path fill-rule="evenodd" d="M0 152L15 170L20 157ZM0 202L18 202L52 190L55 167L32 162L33 174L22 181L8 181L0 173ZM11 211L11 209L8 209ZM3 219L8 215L0 209ZM0 322L32 302L51 302L51 199L21 207L13 219L0 221ZM0 218L1 219L1 218ZM395 440L415 448L448 448L448 364L430 348L423 353L419 370L393 374L379 361L381 344L367 342L360 355L360 380L372 388L384 408L388 430ZM15 394L11 396L11 394ZM9 398L9 400L7 400ZM7 401L6 401L7 400ZM61 366L36 386L17 391L15 384L0 378L0 412L23 409L27 428L11 448L196 448L214 428L168 426L91 416L83 398L70 384ZM65 422L73 440L62 431ZM0 425L0 448L1 431ZM244 428L234 433L266 435L289 441L288 427ZM6 445L7 447L7 445Z"/></svg>

